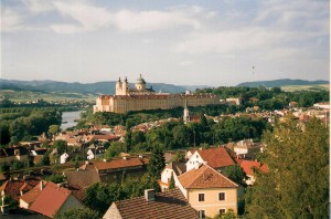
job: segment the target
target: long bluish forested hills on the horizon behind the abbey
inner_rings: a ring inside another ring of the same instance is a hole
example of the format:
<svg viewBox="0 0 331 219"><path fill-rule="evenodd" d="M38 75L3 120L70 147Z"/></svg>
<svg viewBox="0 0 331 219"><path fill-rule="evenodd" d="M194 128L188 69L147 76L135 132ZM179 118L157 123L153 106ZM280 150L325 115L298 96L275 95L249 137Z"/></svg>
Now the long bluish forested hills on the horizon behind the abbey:
<svg viewBox="0 0 331 219"><path fill-rule="evenodd" d="M70 92L82 94L114 94L115 81L110 82L96 82L82 84L78 82L55 82L55 81L17 81L17 80L0 80L0 90L15 90L15 91L44 91L44 92ZM134 87L130 84L130 87ZM156 92L163 93L181 93L186 90L194 91L195 88L206 86L181 86L164 83L147 83L147 87L152 86Z"/></svg>

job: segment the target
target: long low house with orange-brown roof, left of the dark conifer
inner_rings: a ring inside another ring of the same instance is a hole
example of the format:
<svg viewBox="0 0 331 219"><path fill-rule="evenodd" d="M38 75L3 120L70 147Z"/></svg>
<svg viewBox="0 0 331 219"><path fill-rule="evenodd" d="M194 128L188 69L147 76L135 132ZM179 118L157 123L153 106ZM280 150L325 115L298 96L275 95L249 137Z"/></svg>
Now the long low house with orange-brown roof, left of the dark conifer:
<svg viewBox="0 0 331 219"><path fill-rule="evenodd" d="M141 177L146 173L147 164L148 158L140 156L113 158L109 161L95 161L94 166L99 174L102 181L118 182L124 175L130 177Z"/></svg>

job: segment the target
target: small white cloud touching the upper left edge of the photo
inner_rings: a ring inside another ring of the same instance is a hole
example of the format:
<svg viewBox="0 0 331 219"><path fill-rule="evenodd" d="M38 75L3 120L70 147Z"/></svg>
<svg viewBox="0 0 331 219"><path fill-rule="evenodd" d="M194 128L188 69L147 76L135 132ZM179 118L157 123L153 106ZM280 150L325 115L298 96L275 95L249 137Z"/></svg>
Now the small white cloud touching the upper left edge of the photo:
<svg viewBox="0 0 331 219"><path fill-rule="evenodd" d="M1 9L1 32L12 32L23 28L23 17L12 9Z"/></svg>

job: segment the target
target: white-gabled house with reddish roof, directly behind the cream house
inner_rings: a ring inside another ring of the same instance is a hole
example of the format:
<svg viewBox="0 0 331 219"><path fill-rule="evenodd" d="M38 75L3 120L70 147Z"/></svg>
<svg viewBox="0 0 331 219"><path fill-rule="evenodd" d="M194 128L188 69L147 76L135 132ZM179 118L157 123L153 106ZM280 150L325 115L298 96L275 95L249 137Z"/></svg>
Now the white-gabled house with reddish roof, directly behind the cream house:
<svg viewBox="0 0 331 219"><path fill-rule="evenodd" d="M223 167L235 165L224 147L199 149L186 161L186 170L193 169L196 164L207 164L210 167L222 170Z"/></svg>

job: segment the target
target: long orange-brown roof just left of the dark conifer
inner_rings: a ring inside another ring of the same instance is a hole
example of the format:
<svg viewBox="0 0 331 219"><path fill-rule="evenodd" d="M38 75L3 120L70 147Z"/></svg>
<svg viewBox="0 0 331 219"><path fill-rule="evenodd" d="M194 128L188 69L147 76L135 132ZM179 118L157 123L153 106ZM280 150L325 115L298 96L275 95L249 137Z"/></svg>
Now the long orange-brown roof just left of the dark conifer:
<svg viewBox="0 0 331 219"><path fill-rule="evenodd" d="M96 161L94 166L97 170L104 170L143 166L143 163L138 157L129 157L127 159L120 158L111 159L110 161Z"/></svg>

